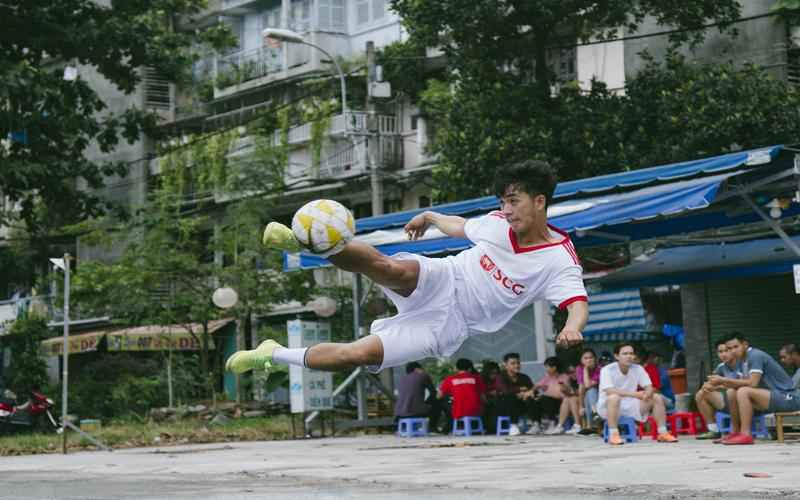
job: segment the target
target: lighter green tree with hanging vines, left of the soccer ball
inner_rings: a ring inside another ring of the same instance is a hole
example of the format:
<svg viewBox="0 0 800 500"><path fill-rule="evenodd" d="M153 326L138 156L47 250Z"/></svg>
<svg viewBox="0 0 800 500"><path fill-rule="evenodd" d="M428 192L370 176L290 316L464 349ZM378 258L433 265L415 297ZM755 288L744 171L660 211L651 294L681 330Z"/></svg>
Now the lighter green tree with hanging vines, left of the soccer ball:
<svg viewBox="0 0 800 500"><path fill-rule="evenodd" d="M272 137L272 131L262 134ZM151 202L124 223L98 222L94 242L127 235L130 244L122 257L114 263L79 263L72 287L84 314L108 314L126 325L185 325L200 345L199 370L209 393L222 361L210 349L211 320L235 317L249 331L254 313L290 299L304 302L313 290L306 273L280 272L281 256L261 244L268 207L261 197L214 202L233 197L232 186L262 186L264 177L279 177L272 169L285 167L283 147L271 147L263 137L256 138L253 160L231 165L228 153L237 135L193 138L191 147L166 153ZM261 169L254 170L254 163ZM250 175L258 179L248 182ZM273 189L279 192L281 186ZM244 196L238 189L234 194ZM224 262L216 258L220 252ZM234 308L220 310L211 302L219 286L237 291ZM192 323L202 325L202 332L193 332Z"/></svg>

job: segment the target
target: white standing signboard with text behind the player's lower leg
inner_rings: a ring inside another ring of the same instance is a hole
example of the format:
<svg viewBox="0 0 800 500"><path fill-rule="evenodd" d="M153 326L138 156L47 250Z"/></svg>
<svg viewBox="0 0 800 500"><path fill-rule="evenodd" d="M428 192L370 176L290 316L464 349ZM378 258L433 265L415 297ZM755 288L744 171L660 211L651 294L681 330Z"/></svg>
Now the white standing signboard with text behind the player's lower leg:
<svg viewBox="0 0 800 500"><path fill-rule="evenodd" d="M311 347L331 340L331 326L327 322L292 320L286 322L286 328L290 349ZM292 413L332 409L333 374L290 366L289 402Z"/></svg>

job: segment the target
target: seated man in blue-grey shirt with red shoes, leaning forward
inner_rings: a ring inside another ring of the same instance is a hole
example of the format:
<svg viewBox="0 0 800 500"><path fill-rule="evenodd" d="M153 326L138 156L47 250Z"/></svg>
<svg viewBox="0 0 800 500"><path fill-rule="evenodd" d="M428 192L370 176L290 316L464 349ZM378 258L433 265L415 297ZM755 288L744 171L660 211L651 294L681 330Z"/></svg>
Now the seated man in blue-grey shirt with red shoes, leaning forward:
<svg viewBox="0 0 800 500"><path fill-rule="evenodd" d="M750 347L748 340L735 332L725 343L742 364L743 378L729 379L711 375L708 380L728 388L731 425L738 419L739 432L722 439L722 444L753 444L753 413L800 411L800 389L772 356ZM735 398L735 399L734 399Z"/></svg>

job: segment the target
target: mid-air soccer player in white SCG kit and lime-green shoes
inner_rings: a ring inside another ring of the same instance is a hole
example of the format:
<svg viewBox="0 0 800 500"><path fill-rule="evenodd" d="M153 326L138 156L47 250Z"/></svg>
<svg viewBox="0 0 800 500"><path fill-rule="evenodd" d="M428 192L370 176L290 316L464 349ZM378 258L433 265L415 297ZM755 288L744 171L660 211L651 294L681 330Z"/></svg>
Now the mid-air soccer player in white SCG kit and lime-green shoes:
<svg viewBox="0 0 800 500"><path fill-rule="evenodd" d="M556 177L547 163L524 161L497 172L500 210L469 220L427 211L406 224L410 239L435 226L447 236L474 243L457 255L389 257L368 244L348 242L329 260L380 285L397 306L397 315L375 320L371 335L350 343L287 349L266 340L256 349L234 353L226 368L242 373L284 364L329 371L367 366L380 371L422 358L446 357L468 336L496 332L537 300L548 300L568 312L557 343L580 343L589 316L587 295L569 236L547 223L555 187ZM301 250L292 230L276 222L264 231L264 244Z"/></svg>

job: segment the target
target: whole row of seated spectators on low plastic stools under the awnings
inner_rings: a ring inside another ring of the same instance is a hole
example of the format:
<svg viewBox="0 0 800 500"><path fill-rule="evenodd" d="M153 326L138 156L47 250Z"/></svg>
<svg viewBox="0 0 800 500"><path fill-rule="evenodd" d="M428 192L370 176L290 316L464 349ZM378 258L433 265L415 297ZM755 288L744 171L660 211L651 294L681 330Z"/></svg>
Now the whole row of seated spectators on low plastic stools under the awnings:
<svg viewBox="0 0 800 500"><path fill-rule="evenodd" d="M716 344L719 365L697 392L697 410L708 423L700 439L725 444L750 444L753 415L800 410L800 350L787 344L780 350L780 364L750 346L734 333ZM675 408L663 356L641 345L620 343L613 355L600 356L586 348L574 366L557 357L544 362L545 373L532 380L522 372L518 353L503 356L502 363L459 359L455 373L434 384L419 363L409 363L398 387L395 415L427 417L430 429L449 433L453 419L482 417L489 433L496 431L500 416L511 421L509 434L593 434L608 427L608 442L622 444L620 417L644 421L652 416L658 440L674 442L666 414ZM788 372L787 372L788 370ZM728 413L733 431L723 436L715 412ZM743 437L742 437L743 436Z"/></svg>

